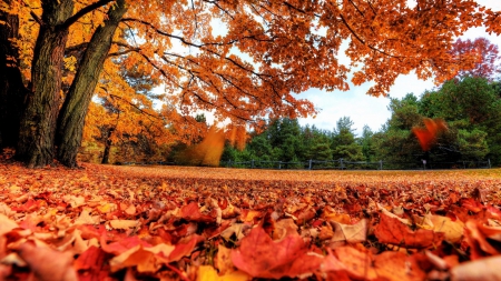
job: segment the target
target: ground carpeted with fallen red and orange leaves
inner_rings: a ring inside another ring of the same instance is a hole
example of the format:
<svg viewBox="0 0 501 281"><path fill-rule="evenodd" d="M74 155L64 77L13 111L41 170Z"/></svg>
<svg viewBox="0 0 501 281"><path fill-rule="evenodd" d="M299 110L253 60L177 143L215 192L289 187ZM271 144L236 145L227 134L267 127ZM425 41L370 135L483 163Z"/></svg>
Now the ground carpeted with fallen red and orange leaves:
<svg viewBox="0 0 501 281"><path fill-rule="evenodd" d="M0 160L0 280L500 280L501 170ZM495 265L498 264L498 265Z"/></svg>

